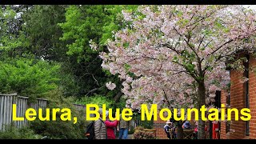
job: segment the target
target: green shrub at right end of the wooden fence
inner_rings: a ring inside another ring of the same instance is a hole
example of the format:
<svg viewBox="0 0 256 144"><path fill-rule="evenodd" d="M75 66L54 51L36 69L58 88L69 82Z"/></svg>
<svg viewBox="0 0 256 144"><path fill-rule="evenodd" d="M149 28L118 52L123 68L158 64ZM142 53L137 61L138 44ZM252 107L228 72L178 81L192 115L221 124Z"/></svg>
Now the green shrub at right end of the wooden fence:
<svg viewBox="0 0 256 144"><path fill-rule="evenodd" d="M64 98L62 93L54 90L48 94L49 104L47 108L69 108L71 110L71 117L77 117L78 122L74 124L72 121L62 121L60 115L57 113L56 121L39 121L35 120L30 123L30 128L37 134L47 136L53 139L66 138L66 139L81 139L85 138L84 133L86 130L85 112L86 110L77 110L73 105L72 98ZM50 116L52 114L50 113ZM50 119L51 120L51 119Z"/></svg>

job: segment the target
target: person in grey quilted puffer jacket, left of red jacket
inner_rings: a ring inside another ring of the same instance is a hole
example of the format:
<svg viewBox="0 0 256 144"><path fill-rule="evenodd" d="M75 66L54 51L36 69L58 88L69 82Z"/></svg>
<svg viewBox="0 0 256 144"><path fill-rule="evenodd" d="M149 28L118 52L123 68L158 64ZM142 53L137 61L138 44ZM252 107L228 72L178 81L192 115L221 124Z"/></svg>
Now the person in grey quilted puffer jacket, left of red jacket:
<svg viewBox="0 0 256 144"><path fill-rule="evenodd" d="M94 122L94 139L106 139L106 125L102 120L102 109L99 109L100 118Z"/></svg>

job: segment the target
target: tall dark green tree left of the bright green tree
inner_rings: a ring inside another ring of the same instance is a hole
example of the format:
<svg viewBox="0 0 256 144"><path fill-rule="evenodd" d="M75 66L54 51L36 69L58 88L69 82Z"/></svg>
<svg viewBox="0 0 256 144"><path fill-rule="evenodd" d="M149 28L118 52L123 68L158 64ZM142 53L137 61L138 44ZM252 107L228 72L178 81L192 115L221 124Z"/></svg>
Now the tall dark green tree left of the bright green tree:
<svg viewBox="0 0 256 144"><path fill-rule="evenodd" d="M23 14L23 31L26 32L26 46L23 51L34 59L61 65L60 84L65 96L78 95L78 86L73 75L73 66L66 55L66 43L62 42L62 29L58 23L65 22L68 6L33 6Z"/></svg>

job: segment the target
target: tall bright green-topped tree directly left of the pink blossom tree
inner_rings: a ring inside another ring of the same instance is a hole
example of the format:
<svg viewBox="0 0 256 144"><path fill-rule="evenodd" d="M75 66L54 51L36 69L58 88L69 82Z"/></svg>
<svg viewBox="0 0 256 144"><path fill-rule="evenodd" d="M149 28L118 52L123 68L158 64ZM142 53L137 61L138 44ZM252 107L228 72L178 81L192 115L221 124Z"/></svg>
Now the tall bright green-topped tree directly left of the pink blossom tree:
<svg viewBox="0 0 256 144"><path fill-rule="evenodd" d="M69 6L66 9L66 22L62 22L62 41L68 42L67 54L73 66L73 74L78 82L80 96L102 94L119 101L122 93L116 76L103 71L98 51L106 50L106 40L113 31L122 28L122 9L135 10L138 6ZM90 49L90 40L100 45L98 51ZM106 89L106 82L115 82L118 89Z"/></svg>

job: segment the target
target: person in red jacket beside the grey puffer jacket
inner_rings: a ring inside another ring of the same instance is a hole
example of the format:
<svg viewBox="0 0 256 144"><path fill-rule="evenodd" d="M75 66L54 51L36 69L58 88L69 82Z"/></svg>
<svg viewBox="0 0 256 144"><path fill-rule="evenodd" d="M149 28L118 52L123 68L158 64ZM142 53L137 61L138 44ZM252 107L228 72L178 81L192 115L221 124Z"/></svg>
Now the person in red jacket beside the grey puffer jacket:
<svg viewBox="0 0 256 144"><path fill-rule="evenodd" d="M118 126L118 121L114 120L113 122L110 121L109 119L109 112L106 111L106 134L107 134L107 139L115 139L115 134L114 134L114 129L115 127Z"/></svg>

